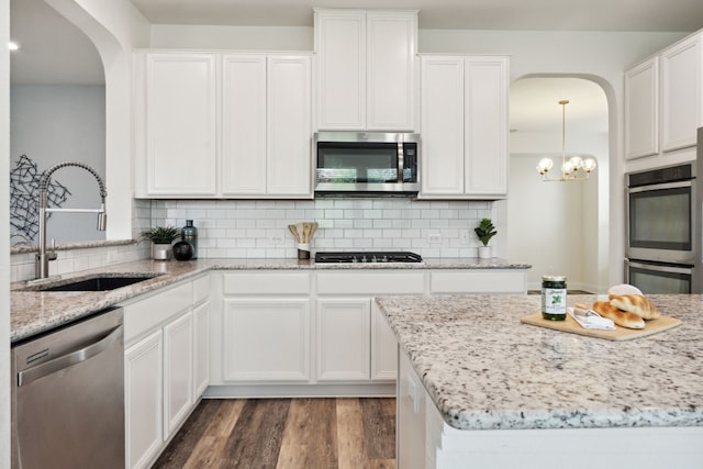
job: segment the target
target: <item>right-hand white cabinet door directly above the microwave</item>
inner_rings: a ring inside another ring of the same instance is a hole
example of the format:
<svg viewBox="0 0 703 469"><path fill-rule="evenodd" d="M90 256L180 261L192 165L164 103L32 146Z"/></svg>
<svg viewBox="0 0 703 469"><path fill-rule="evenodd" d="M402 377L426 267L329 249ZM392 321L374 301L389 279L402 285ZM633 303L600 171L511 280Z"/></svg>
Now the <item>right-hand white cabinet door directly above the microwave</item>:
<svg viewBox="0 0 703 469"><path fill-rule="evenodd" d="M367 13L366 127L414 131L416 13Z"/></svg>

